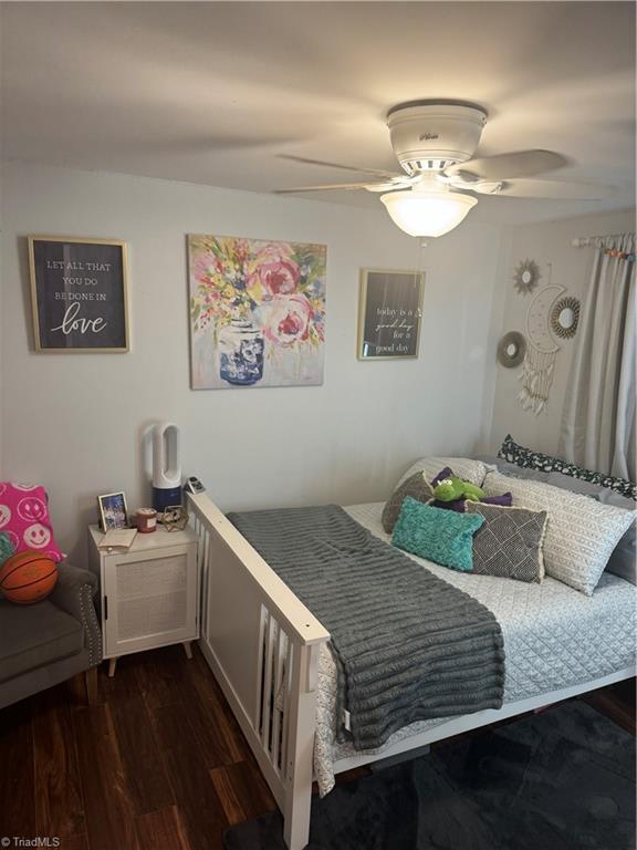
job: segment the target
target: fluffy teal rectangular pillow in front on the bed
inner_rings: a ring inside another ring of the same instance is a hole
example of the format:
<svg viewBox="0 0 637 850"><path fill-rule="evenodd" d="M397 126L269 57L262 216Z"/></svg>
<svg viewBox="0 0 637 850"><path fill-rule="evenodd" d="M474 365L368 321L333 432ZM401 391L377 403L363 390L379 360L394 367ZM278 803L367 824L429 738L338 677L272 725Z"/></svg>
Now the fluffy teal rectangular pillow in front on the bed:
<svg viewBox="0 0 637 850"><path fill-rule="evenodd" d="M432 508L408 496L394 527L391 542L398 549L442 567L471 572L473 535L483 522L480 514Z"/></svg>

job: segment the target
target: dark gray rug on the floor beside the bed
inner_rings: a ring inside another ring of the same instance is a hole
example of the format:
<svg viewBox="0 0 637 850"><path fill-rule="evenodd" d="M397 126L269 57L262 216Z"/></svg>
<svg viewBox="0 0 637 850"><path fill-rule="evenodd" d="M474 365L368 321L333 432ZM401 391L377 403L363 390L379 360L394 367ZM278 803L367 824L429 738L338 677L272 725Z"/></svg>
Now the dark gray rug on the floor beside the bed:
<svg viewBox="0 0 637 850"><path fill-rule="evenodd" d="M270 812L226 850L284 850ZM635 740L579 702L445 745L312 804L309 850L634 850Z"/></svg>

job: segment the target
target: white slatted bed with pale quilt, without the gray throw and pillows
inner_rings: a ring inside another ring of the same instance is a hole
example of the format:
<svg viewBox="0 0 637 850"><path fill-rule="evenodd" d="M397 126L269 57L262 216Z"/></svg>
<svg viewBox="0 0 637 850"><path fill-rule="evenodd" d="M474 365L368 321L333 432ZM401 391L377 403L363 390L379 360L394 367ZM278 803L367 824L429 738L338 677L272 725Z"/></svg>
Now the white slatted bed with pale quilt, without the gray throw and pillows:
<svg viewBox="0 0 637 850"><path fill-rule="evenodd" d="M335 742L330 634L206 494L189 497L202 576L201 649L284 817L289 850L307 843L312 780L327 792L352 767L635 675L636 588L604 573L586 597L555 579L462 574L411 557L497 616L507 653L499 709L407 726L379 749ZM347 507L374 536L383 505Z"/></svg>

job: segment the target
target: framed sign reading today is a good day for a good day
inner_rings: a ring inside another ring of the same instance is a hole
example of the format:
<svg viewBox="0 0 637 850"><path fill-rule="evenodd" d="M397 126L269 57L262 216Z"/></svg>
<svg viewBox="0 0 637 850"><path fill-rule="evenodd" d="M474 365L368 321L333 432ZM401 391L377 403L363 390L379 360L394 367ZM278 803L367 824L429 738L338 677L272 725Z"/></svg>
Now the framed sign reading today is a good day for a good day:
<svg viewBox="0 0 637 850"><path fill-rule="evenodd" d="M417 357L425 274L362 269L358 360Z"/></svg>

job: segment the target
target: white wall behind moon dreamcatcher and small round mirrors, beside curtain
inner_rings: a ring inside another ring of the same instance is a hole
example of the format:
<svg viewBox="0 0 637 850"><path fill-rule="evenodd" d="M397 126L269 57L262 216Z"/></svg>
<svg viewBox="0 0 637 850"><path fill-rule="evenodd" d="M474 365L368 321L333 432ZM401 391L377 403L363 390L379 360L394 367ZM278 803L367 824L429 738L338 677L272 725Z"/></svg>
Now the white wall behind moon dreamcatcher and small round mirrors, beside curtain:
<svg viewBox="0 0 637 850"><path fill-rule="evenodd" d="M578 236L603 236L635 229L635 210L605 212L603 215L578 216L562 221L511 228L502 239L501 271L494 299L495 310L500 305L500 335L507 331L521 331L526 335L525 319L532 296L520 294L513 284L513 273L521 260L535 260L542 278L533 294L549 282L549 263L552 263L551 283L566 288L564 296L579 300L588 283L593 267L592 248L574 248L572 239ZM560 423L564 406L564 394L575 339L560 340L561 350L555 360L553 386L545 412L535 416L524 411L516 401L520 392L522 367L495 370L495 398L491 447L498 448L507 433L525 446L549 454L557 453Z"/></svg>

